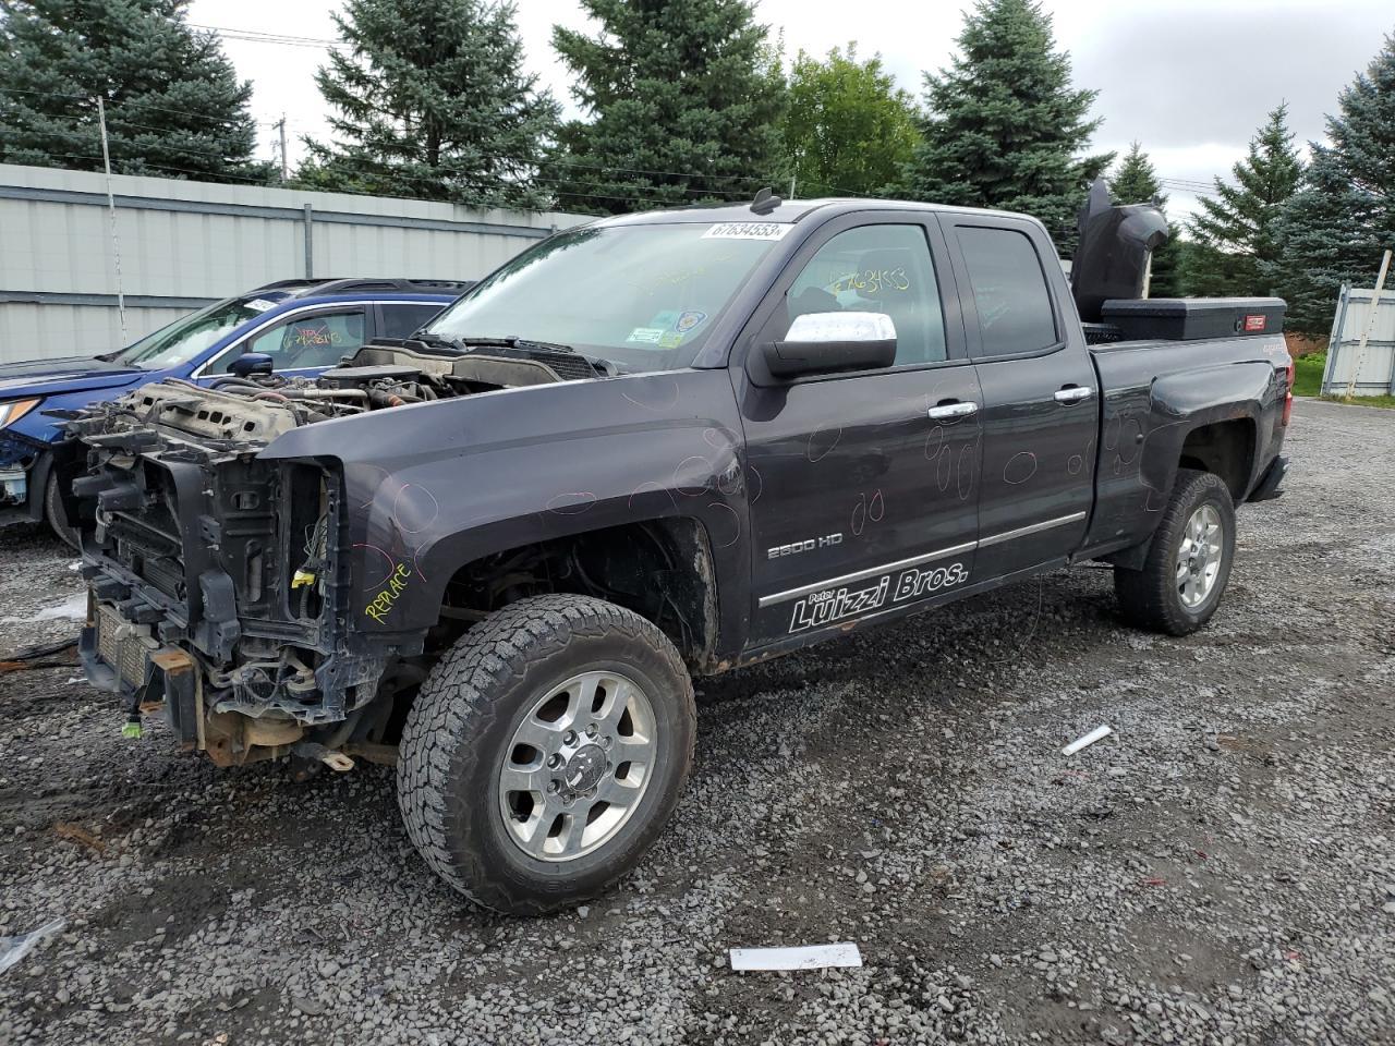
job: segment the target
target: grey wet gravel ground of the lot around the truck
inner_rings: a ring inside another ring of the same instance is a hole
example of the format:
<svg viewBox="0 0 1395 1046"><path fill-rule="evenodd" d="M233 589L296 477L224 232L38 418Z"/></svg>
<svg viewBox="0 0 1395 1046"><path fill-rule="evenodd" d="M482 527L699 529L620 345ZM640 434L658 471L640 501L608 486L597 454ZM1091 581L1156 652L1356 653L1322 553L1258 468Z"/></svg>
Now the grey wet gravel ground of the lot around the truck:
<svg viewBox="0 0 1395 1046"><path fill-rule="evenodd" d="M1395 414L1304 402L1289 453L1190 639L1077 569L707 681L670 830L559 916L451 894L391 771L0 672L0 936L68 920L0 1043L1395 1042ZM0 540L0 649L71 633L71 562ZM865 967L728 967L827 940Z"/></svg>

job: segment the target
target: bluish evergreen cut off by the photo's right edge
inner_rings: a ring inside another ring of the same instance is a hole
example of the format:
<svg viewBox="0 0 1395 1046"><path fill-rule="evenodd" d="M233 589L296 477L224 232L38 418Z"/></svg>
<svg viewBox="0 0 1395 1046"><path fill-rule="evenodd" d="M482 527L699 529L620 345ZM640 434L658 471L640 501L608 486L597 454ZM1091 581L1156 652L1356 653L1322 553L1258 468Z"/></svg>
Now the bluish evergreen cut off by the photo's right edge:
<svg viewBox="0 0 1395 1046"><path fill-rule="evenodd" d="M1342 283L1374 286L1381 252L1395 248L1395 36L1338 109L1327 119L1331 146L1310 144L1311 166L1276 230L1286 322L1317 336L1331 331Z"/></svg>

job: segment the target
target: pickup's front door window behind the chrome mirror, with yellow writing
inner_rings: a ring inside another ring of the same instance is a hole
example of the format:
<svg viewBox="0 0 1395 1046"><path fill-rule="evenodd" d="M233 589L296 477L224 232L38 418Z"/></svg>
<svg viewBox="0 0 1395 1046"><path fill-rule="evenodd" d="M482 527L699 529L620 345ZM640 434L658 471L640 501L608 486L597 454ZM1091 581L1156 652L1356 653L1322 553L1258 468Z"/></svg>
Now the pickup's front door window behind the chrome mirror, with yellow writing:
<svg viewBox="0 0 1395 1046"><path fill-rule="evenodd" d="M883 312L896 325L897 367L946 358L935 262L917 225L869 225L829 240L785 293L788 324L806 312Z"/></svg>

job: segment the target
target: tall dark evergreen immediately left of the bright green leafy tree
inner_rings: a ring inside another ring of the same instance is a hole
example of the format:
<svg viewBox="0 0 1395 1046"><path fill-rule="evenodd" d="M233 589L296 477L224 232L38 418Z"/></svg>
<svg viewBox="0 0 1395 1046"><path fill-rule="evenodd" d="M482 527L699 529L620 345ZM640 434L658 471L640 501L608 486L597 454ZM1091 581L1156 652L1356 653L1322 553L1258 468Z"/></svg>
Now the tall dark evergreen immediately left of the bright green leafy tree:
<svg viewBox="0 0 1395 1046"><path fill-rule="evenodd" d="M619 213L748 199L777 173L784 79L748 0L582 0L552 46L589 117L564 126L559 205Z"/></svg>

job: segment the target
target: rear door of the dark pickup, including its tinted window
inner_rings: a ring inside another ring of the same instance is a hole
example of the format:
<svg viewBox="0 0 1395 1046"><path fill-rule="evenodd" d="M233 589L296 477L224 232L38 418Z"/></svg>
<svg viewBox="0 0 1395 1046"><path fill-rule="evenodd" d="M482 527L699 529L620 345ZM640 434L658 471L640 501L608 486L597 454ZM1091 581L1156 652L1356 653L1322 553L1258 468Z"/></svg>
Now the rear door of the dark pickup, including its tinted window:
<svg viewBox="0 0 1395 1046"><path fill-rule="evenodd" d="M1080 547L1094 491L1099 392L1050 241L1032 222L942 216L983 391L981 577ZM1046 266L1057 266L1048 278Z"/></svg>

